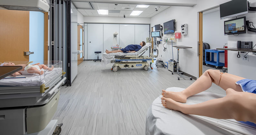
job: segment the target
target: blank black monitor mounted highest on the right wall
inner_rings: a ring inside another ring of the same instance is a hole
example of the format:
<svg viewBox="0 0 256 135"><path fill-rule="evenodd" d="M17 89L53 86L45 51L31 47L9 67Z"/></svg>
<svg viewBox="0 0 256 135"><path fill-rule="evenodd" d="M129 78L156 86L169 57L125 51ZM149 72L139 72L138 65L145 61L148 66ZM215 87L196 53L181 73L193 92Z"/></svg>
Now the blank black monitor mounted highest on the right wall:
<svg viewBox="0 0 256 135"><path fill-rule="evenodd" d="M221 19L248 13L247 0L232 0L220 4Z"/></svg>

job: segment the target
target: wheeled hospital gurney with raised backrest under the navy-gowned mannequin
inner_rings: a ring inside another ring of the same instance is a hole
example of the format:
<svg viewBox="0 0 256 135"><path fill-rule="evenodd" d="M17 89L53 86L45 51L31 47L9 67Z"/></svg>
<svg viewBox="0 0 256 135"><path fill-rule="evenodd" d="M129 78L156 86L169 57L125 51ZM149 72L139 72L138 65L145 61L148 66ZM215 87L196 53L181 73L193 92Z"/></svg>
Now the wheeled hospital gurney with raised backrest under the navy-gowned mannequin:
<svg viewBox="0 0 256 135"><path fill-rule="evenodd" d="M140 50L137 52L130 52L130 53L123 53L123 52L117 52L117 53L103 53L102 60L106 64L113 63L113 67L111 68L112 71L116 72L118 69L121 68L130 68L130 67L142 67L144 70L148 70L148 67L151 64L154 63L154 58L157 57L157 55L154 55L152 52L150 52L150 56L142 56L148 48L150 48L151 43L146 43L145 46L143 46ZM151 51L151 50L150 50ZM158 52L157 52L158 53ZM147 61L152 60L150 65Z"/></svg>

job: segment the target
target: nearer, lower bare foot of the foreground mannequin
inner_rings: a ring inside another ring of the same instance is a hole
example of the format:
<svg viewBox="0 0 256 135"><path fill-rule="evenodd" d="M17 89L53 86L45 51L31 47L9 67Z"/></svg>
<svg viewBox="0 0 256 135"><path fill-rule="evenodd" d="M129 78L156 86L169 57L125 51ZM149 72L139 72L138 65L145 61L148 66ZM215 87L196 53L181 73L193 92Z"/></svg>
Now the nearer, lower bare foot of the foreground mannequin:
<svg viewBox="0 0 256 135"><path fill-rule="evenodd" d="M175 110L175 111L181 111L181 106L182 104L179 103L179 102L176 102L170 98L165 98L165 97L162 97L162 105L165 107L165 108L168 108L168 109L171 109L171 110Z"/></svg>

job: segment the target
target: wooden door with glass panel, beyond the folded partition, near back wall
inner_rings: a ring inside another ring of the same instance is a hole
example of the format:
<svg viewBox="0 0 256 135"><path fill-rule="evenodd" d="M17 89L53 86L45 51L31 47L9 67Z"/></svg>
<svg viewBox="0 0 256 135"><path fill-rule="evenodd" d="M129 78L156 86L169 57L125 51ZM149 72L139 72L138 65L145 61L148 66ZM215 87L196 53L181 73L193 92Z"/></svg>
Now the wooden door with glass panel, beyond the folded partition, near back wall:
<svg viewBox="0 0 256 135"><path fill-rule="evenodd" d="M81 25L77 26L77 50L83 51L83 27ZM83 52L84 53L84 52ZM83 62L83 53L77 55L77 65Z"/></svg>

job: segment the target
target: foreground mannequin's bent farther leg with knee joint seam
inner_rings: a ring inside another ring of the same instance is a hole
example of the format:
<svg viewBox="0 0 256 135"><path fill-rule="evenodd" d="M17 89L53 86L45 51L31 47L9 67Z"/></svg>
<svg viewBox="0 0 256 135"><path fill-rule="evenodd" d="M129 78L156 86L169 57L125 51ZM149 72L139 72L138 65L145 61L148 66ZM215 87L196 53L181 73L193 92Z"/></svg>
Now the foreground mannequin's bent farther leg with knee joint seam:
<svg viewBox="0 0 256 135"><path fill-rule="evenodd" d="M186 99L189 96L198 94L210 88L212 83L219 85L224 90L232 88L235 91L242 92L242 89L239 85L236 85L235 82L245 79L243 77L231 75L228 73L221 73L219 70L208 69L200 76L192 85L187 87L181 92L168 92L162 90L162 95L166 98L171 98L177 102L186 103Z"/></svg>

